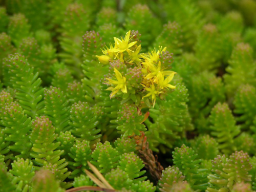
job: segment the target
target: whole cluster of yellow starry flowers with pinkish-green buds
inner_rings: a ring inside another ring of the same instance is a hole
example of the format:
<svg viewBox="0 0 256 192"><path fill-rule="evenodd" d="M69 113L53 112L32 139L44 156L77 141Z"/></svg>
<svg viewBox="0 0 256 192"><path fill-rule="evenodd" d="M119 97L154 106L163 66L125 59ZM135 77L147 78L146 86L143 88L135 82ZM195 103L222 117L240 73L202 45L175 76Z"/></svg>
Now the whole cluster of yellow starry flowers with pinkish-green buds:
<svg viewBox="0 0 256 192"><path fill-rule="evenodd" d="M121 97L122 102L145 103L149 108L154 107L157 97L175 89L170 81L176 72L169 71L173 57L166 47L140 53L141 45L134 38L137 33L132 33L134 35L127 32L124 39L114 37L115 45L110 44L102 50L104 55L96 57L103 65L110 66L104 83L109 85L107 90L112 91L111 98Z"/></svg>

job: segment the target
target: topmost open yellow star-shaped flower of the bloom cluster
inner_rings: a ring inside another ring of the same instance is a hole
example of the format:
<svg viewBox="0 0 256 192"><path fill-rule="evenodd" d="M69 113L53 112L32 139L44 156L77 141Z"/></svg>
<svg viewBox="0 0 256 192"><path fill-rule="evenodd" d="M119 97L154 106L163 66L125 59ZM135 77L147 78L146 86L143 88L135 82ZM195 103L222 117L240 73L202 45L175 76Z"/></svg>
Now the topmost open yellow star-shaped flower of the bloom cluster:
<svg viewBox="0 0 256 192"><path fill-rule="evenodd" d="M130 33L131 31L128 31L124 37L124 39L121 37L121 39L114 37L115 40L115 47L114 49L111 49L112 52L119 52L122 53L126 50L129 50L130 47L133 47L137 41L131 42L129 44L129 40L130 40ZM131 51L131 50L130 50Z"/></svg>

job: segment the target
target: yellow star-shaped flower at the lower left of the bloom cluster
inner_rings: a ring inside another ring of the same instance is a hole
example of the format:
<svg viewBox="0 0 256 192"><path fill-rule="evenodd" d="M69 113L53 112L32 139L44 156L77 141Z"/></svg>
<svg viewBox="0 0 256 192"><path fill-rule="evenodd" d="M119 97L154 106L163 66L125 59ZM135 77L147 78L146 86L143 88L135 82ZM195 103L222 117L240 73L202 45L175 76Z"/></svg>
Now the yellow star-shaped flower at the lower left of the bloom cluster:
<svg viewBox="0 0 256 192"><path fill-rule="evenodd" d="M117 80L112 80L110 78L106 78L109 82L106 82L107 84L115 84L116 87L110 87L106 90L112 91L110 94L110 98L112 98L119 90L121 90L123 93L127 93L127 88L126 88L126 78L122 76L122 74L114 68L115 76Z"/></svg>

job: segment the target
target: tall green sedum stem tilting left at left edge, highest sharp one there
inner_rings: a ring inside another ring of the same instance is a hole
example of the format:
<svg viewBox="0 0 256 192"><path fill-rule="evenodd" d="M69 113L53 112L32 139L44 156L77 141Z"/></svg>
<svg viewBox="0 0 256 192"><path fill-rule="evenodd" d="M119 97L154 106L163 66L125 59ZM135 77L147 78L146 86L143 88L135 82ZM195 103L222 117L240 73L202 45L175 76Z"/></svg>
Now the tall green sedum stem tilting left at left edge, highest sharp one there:
<svg viewBox="0 0 256 192"><path fill-rule="evenodd" d="M38 78L38 72L33 73L34 68L30 67L25 56L9 55L4 62L4 70L4 78L9 83L13 82L11 86L17 90L15 97L24 108L25 114L32 118L42 114L44 110L44 101L42 101L44 88L40 86L42 81ZM8 83L6 85L10 86Z"/></svg>

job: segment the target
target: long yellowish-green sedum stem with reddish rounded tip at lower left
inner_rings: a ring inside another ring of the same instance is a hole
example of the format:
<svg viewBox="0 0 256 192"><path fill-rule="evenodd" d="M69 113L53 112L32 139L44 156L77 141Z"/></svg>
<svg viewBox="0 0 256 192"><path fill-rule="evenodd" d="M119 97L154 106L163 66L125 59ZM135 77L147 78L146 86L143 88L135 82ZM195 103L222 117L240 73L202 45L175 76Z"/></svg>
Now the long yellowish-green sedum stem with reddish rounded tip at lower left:
<svg viewBox="0 0 256 192"><path fill-rule="evenodd" d="M68 169L65 168L69 164L66 159L60 159L60 155L64 151L56 150L60 143L54 142L57 137L55 127L45 116L37 117L31 126L33 131L31 132L30 140L33 143L33 147L30 156L34 158L34 164L45 166L46 169L54 172L58 180L64 181L71 172L67 172ZM62 182L61 185L65 188L70 187L70 184L66 182Z"/></svg>

